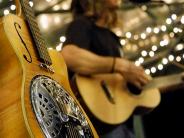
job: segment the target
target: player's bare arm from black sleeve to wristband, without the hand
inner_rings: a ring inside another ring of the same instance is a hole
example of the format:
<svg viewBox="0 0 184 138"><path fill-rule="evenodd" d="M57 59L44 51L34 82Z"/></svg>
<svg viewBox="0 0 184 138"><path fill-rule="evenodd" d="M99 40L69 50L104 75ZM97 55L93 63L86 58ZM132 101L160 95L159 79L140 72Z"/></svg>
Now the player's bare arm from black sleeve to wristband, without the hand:
<svg viewBox="0 0 184 138"><path fill-rule="evenodd" d="M74 45L65 46L61 51L70 70L84 74L110 73L112 57L98 56Z"/></svg>

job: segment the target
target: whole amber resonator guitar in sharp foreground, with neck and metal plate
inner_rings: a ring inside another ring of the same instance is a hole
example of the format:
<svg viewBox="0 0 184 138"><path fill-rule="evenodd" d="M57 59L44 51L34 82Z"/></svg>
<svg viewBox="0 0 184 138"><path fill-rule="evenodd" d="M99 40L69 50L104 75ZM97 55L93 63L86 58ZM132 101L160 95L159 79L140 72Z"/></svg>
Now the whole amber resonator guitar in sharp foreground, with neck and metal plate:
<svg viewBox="0 0 184 138"><path fill-rule="evenodd" d="M63 57L47 51L29 0L0 19L0 137L93 138Z"/></svg>

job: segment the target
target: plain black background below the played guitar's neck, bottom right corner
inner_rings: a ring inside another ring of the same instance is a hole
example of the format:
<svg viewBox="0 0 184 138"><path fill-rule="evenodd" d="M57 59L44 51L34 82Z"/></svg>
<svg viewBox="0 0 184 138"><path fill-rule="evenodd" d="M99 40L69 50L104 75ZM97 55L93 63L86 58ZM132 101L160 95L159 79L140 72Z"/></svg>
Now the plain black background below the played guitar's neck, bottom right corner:
<svg viewBox="0 0 184 138"><path fill-rule="evenodd" d="M184 85L161 97L160 105L143 116L146 138L184 138Z"/></svg>

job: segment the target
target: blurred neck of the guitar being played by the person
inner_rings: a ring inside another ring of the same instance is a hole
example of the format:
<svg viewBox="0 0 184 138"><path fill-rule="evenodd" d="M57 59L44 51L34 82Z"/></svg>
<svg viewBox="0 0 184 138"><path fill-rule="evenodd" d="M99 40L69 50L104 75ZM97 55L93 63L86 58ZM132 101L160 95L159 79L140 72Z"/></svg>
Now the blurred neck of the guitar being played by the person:
<svg viewBox="0 0 184 138"><path fill-rule="evenodd" d="M164 77L156 77L151 80L146 86L144 86L144 90L150 88L158 88L162 93L169 88L174 88L183 84L182 74L174 74Z"/></svg>

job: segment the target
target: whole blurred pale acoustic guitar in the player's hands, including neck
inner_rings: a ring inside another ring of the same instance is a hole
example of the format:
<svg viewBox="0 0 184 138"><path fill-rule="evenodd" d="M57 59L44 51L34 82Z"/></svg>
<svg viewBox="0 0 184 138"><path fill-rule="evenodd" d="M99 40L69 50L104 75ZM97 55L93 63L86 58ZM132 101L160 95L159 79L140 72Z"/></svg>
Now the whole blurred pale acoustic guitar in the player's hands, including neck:
<svg viewBox="0 0 184 138"><path fill-rule="evenodd" d="M182 86L182 74L158 77L142 90L127 83L120 74L75 76L76 96L96 119L117 125L133 113L141 114L154 109L160 103L160 92Z"/></svg>

